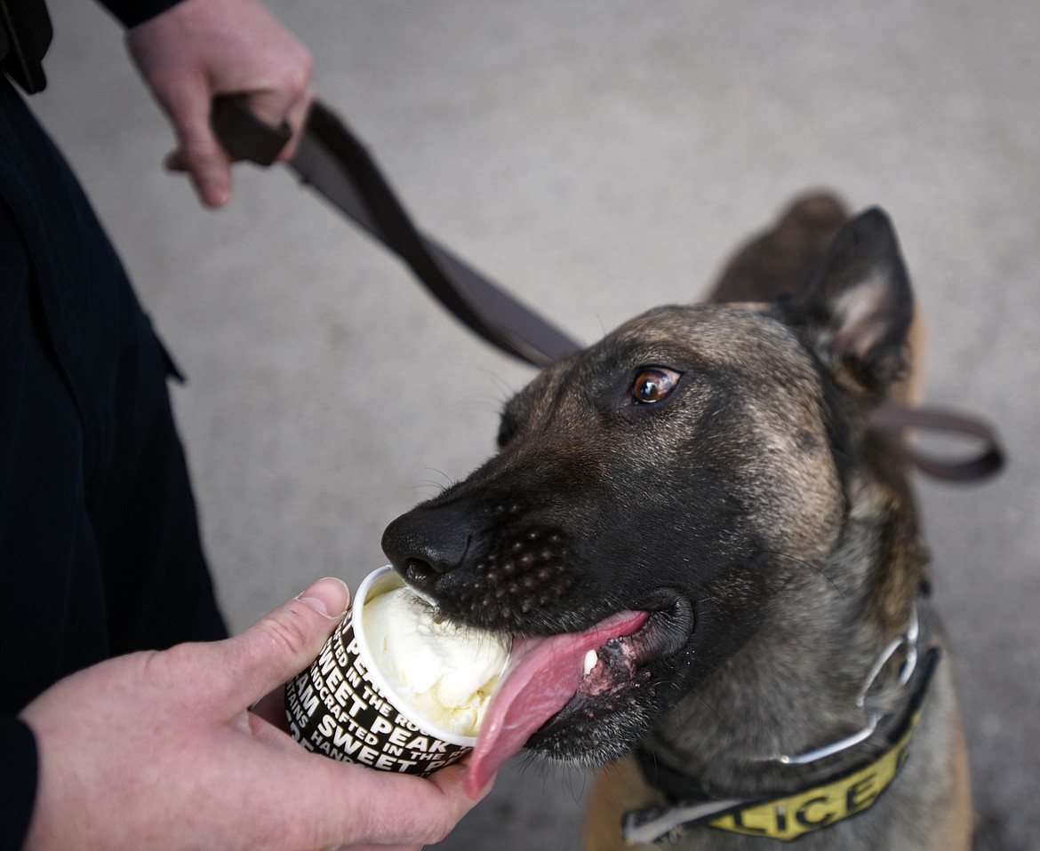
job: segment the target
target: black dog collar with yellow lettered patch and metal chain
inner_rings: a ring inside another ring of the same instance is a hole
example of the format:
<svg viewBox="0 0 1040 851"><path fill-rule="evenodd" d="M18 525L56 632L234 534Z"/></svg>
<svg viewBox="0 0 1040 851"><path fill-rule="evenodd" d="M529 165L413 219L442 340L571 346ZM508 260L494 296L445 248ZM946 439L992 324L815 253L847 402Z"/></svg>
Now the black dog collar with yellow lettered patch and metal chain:
<svg viewBox="0 0 1040 851"><path fill-rule="evenodd" d="M677 842L694 826L789 841L868 809L907 759L932 675L941 658L938 647L929 648L924 659L919 658L918 647L925 643L920 613L921 601L918 601L907 632L893 638L879 654L857 699L862 707L881 671L902 650L899 686L907 692L907 697L898 712L869 715L864 727L852 736L804 753L780 754L772 761L789 766L840 763L841 756L856 745L884 737L887 747L879 756L868 762L847 763L825 779L796 792L744 799L713 797L698 779L660 764L652 752L640 747L635 757L646 781L662 792L669 804L626 813L622 822L625 842L630 845Z"/></svg>

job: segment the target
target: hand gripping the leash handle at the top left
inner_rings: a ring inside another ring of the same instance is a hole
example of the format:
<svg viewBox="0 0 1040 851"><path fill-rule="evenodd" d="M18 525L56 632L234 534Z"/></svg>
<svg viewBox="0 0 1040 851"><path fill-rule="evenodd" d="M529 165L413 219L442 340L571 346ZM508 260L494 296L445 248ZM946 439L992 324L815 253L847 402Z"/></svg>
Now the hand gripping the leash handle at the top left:
<svg viewBox="0 0 1040 851"><path fill-rule="evenodd" d="M127 33L130 55L174 124L178 147L166 167L187 171L200 198L231 196L232 156L210 127L217 95L246 96L272 127L287 122L291 159L311 102L311 58L257 0L182 0Z"/></svg>

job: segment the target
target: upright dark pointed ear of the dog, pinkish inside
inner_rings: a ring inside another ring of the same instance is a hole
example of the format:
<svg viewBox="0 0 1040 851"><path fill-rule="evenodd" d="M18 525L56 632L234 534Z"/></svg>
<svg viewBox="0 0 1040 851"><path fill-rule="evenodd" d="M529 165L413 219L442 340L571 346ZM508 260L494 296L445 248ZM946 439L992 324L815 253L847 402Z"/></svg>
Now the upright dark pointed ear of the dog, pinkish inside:
<svg viewBox="0 0 1040 851"><path fill-rule="evenodd" d="M834 239L807 290L786 305L839 383L884 395L905 369L913 296L888 216L874 208Z"/></svg>

